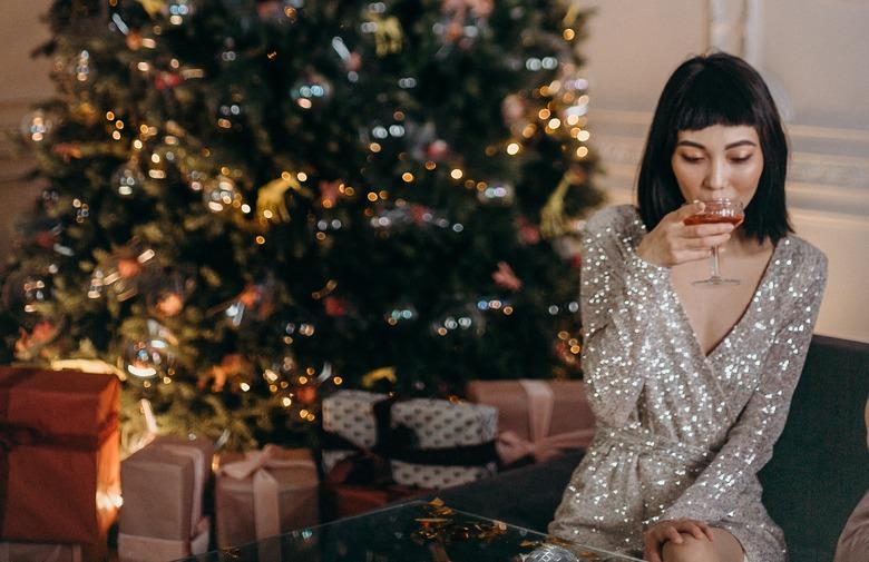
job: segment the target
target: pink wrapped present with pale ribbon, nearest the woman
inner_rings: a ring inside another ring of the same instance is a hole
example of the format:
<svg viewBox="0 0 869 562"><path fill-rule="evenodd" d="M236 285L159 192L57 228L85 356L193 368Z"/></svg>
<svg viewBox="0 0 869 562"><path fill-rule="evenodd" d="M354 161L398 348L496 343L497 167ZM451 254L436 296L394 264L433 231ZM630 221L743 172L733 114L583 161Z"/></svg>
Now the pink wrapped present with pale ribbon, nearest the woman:
<svg viewBox="0 0 869 562"><path fill-rule="evenodd" d="M582 381L471 381L467 395L498 408L498 454L506 465L587 447L595 434Z"/></svg>

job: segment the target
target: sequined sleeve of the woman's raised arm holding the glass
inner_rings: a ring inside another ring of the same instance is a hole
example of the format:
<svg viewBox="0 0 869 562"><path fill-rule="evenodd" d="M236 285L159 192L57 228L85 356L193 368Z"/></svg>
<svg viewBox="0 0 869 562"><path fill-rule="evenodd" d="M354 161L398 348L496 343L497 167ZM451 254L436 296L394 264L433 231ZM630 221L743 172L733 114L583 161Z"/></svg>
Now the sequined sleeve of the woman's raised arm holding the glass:
<svg viewBox="0 0 869 562"><path fill-rule="evenodd" d="M621 213L621 214L619 214ZM583 240L580 315L583 371L598 420L625 423L636 406L655 345L647 326L670 283L670 269L639 258L623 208L598 213Z"/></svg>

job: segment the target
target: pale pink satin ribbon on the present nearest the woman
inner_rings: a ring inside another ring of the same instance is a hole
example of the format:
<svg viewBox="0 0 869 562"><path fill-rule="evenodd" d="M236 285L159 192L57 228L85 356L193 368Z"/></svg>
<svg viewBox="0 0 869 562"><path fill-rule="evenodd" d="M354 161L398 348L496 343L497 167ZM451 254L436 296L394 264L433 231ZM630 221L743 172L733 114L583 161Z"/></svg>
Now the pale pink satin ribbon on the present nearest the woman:
<svg viewBox="0 0 869 562"><path fill-rule="evenodd" d="M555 395L546 382L521 379L519 384L528 396L530 440L523 438L511 431L500 433L496 448L505 465L525 456L533 456L537 462L543 462L559 455L565 448L588 446L595 435L594 427L549 435Z"/></svg>

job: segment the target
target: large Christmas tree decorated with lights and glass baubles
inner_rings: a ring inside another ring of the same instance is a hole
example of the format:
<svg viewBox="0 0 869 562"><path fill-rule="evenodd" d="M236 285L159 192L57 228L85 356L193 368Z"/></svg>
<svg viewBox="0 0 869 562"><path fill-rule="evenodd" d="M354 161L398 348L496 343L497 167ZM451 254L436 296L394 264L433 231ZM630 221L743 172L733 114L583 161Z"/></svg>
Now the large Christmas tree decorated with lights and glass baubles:
<svg viewBox="0 0 869 562"><path fill-rule="evenodd" d="M56 0L8 362L116 372L168 431L286 442L341 385L578 373L597 204L553 0Z"/></svg>

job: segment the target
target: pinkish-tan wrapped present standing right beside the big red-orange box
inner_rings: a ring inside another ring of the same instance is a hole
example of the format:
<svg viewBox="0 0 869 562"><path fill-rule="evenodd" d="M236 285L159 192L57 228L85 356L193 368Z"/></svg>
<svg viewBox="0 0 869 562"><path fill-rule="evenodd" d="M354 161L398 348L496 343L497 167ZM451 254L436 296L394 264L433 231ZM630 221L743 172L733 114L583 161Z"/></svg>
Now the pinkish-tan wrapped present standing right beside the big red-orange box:
<svg viewBox="0 0 869 562"><path fill-rule="evenodd" d="M159 561L166 559L156 558L158 553L191 550L197 541L205 541L207 546L207 535L203 539L199 528L213 456L214 446L207 440L165 436L121 463L124 507L119 532L129 546L129 556L120 553L120 560ZM160 548L147 558L144 545L149 543Z"/></svg>

